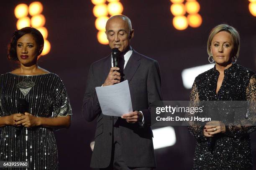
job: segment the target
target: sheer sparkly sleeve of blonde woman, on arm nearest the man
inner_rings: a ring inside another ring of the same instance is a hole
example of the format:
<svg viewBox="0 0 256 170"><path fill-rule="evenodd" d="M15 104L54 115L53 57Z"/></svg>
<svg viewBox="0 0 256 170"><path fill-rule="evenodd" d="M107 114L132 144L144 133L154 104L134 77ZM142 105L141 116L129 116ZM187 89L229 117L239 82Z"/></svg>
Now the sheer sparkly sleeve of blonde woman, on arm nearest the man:
<svg viewBox="0 0 256 170"><path fill-rule="evenodd" d="M200 100L199 100L199 93L198 93L196 82L194 82L192 86L192 91L190 93L189 100L190 100L189 107L198 106ZM187 117L189 117L189 120L191 116L192 114L190 113L187 114ZM206 140L206 137L203 134L203 128L204 128L203 126L196 124L194 121L189 121L188 130L192 134L192 136L195 137L197 142L202 142Z"/></svg>

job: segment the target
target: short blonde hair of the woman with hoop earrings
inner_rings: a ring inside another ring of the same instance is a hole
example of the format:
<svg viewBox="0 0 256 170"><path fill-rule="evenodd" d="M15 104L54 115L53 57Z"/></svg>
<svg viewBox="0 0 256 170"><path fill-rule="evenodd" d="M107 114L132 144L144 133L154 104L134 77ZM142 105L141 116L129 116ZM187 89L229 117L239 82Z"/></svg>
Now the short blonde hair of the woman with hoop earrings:
<svg viewBox="0 0 256 170"><path fill-rule="evenodd" d="M234 43L233 55L235 55L235 57L238 58L239 51L240 51L240 36L239 36L239 33L237 32L237 30L234 27L232 27L228 24L217 25L215 28L213 28L211 30L210 35L208 37L208 41L207 41L207 53L208 53L208 55L210 56L210 54L211 54L212 39L220 31L226 31L226 32L231 34L231 36L233 38L233 43ZM233 56L231 56L231 57L233 57Z"/></svg>

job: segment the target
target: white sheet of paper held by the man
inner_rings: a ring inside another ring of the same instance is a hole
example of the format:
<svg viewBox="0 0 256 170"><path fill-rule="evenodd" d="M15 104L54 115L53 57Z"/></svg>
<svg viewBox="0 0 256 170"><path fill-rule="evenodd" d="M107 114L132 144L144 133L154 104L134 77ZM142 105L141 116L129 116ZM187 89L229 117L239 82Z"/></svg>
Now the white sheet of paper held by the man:
<svg viewBox="0 0 256 170"><path fill-rule="evenodd" d="M120 117L123 114L133 112L127 80L111 86L96 87L95 89L103 114Z"/></svg>

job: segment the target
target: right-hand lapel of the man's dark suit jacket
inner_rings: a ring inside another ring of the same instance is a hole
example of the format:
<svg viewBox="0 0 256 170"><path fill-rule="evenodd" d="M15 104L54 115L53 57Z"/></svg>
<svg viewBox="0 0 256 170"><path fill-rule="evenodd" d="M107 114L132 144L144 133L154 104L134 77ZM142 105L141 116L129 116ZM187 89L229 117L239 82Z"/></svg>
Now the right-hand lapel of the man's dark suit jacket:
<svg viewBox="0 0 256 170"><path fill-rule="evenodd" d="M141 64L140 59L141 57L138 55L138 53L135 50L133 50L133 53L129 58L124 69L125 80L128 80L128 82L131 81L131 79L133 78L133 75L138 69L138 66Z"/></svg>

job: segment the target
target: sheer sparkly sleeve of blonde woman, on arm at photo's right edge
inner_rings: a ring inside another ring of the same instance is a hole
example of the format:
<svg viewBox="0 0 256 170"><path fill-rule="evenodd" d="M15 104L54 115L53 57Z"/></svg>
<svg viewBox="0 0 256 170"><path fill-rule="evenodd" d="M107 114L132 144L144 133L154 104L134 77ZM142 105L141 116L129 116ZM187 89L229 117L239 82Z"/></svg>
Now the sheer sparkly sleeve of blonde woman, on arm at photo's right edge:
<svg viewBox="0 0 256 170"><path fill-rule="evenodd" d="M245 136L256 131L256 74L251 76L246 87L246 100L249 101L247 120L245 126L226 126L225 134L230 137Z"/></svg>

